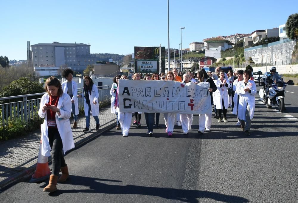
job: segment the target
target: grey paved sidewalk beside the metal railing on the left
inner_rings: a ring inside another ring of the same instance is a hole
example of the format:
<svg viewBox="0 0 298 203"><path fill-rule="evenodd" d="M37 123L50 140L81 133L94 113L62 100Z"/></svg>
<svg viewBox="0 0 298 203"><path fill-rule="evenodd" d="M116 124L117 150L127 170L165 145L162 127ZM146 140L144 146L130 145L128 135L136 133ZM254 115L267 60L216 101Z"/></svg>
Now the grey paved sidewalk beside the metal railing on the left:
<svg viewBox="0 0 298 203"><path fill-rule="evenodd" d="M95 130L95 120L91 115L90 131L83 133L86 128L84 115L78 115L77 128L72 129L75 149L101 133L116 127L116 114L109 107L100 109L100 129ZM71 119L73 125L73 119ZM31 177L35 171L41 131L36 130L27 136L0 142L0 192L5 186L22 178Z"/></svg>

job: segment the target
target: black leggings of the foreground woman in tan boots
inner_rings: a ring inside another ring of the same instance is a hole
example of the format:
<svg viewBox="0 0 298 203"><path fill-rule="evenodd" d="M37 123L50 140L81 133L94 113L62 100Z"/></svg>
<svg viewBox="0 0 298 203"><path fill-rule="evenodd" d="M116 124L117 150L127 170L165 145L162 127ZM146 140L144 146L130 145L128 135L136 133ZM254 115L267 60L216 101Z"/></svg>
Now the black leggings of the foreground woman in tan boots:
<svg viewBox="0 0 298 203"><path fill-rule="evenodd" d="M59 175L60 167L66 166L62 154L62 140L57 128L48 128L49 144L52 148L52 174Z"/></svg>

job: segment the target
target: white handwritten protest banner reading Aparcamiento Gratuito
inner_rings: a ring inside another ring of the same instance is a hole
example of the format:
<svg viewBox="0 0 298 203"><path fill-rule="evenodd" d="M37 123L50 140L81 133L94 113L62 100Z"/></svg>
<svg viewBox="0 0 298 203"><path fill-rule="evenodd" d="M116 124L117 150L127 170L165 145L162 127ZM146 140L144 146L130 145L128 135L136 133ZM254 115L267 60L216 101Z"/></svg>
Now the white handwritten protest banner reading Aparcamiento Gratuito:
<svg viewBox="0 0 298 203"><path fill-rule="evenodd" d="M212 113L209 83L119 80L119 112Z"/></svg>

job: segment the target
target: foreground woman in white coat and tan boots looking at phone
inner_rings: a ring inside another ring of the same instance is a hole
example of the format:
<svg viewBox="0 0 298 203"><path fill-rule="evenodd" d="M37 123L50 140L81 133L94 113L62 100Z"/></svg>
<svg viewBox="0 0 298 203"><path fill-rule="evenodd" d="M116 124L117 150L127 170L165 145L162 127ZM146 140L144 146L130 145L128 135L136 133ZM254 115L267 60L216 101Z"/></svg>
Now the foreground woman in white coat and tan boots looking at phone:
<svg viewBox="0 0 298 203"><path fill-rule="evenodd" d="M72 102L70 97L63 93L60 81L54 76L46 80L45 90L47 93L41 97L38 110L38 115L44 118L44 123L41 124L41 154L48 157L52 150L52 175L44 191L53 192L57 190L58 181L64 182L69 177L62 149L65 154L75 147L69 122ZM62 175L58 180L60 169Z"/></svg>

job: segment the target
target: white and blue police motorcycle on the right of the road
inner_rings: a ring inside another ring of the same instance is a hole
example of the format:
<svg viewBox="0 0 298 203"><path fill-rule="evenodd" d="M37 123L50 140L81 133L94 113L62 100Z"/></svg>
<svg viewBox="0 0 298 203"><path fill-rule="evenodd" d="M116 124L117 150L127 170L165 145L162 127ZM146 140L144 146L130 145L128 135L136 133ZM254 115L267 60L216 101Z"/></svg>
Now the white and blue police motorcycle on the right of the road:
<svg viewBox="0 0 298 203"><path fill-rule="evenodd" d="M275 73L278 74L278 73ZM266 98L266 84L265 80L267 77L270 77L270 73L265 73L263 78L260 80L260 85L263 86L259 91L260 98L263 99L263 102L266 104L267 108L272 108L273 106L277 106L280 112L285 110L285 88L287 84L283 81L281 75L277 75L272 84L269 84L269 92Z"/></svg>

